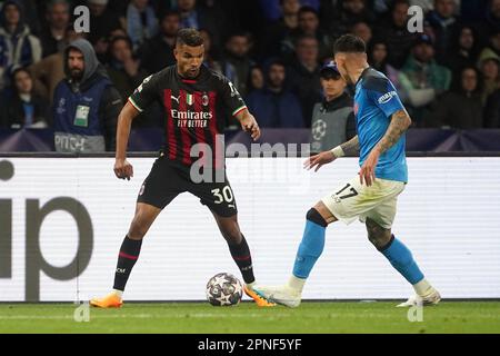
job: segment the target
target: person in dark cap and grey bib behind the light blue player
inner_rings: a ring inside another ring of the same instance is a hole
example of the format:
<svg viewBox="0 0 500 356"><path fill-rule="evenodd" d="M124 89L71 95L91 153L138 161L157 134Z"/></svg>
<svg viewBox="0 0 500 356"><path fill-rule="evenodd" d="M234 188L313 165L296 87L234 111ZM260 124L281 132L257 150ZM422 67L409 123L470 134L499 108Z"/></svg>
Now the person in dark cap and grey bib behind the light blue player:
<svg viewBox="0 0 500 356"><path fill-rule="evenodd" d="M352 99L346 92L347 82L333 62L320 70L323 100L314 105L311 120L311 151L321 152L356 136Z"/></svg>

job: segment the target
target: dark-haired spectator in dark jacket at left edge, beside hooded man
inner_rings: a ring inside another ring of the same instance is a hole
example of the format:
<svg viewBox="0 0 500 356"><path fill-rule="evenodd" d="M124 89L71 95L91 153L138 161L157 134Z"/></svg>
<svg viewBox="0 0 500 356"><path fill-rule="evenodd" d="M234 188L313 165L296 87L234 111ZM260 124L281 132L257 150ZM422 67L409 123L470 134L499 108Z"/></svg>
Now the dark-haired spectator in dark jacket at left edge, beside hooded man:
<svg viewBox="0 0 500 356"><path fill-rule="evenodd" d="M2 102L0 121L11 129L50 126L49 102L33 91L33 80L26 68L12 72L12 97Z"/></svg>

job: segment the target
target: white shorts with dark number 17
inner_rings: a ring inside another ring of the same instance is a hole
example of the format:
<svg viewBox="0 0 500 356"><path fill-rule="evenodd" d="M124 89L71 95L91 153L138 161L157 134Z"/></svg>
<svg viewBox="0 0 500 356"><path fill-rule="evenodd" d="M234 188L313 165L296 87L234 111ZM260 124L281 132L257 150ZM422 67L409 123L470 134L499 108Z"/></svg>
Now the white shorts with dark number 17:
<svg viewBox="0 0 500 356"><path fill-rule="evenodd" d="M404 190L404 182L377 178L371 187L362 185L359 176L346 184L321 201L330 212L346 224L357 218L367 218L384 229L390 229L396 217L398 196Z"/></svg>

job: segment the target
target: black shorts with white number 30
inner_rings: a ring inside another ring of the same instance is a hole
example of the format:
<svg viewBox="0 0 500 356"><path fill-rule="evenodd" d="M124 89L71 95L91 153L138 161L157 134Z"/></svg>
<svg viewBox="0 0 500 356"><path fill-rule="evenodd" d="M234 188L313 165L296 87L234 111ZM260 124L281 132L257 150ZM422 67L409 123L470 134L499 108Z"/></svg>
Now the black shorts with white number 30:
<svg viewBox="0 0 500 356"><path fill-rule="evenodd" d="M238 212L238 209L228 178L226 175L223 178L223 182L196 184L190 178L189 167L181 167L162 156L154 161L149 176L142 184L137 202L163 209L179 194L189 191L217 215L231 217Z"/></svg>

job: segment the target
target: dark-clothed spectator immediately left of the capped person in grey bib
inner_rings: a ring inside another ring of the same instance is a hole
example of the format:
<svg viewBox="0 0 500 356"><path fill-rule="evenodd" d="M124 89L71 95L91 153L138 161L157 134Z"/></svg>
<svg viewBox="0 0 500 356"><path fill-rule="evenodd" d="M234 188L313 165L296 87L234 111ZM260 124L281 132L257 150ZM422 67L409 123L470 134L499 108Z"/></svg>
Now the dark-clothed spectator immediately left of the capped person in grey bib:
<svg viewBox="0 0 500 356"><path fill-rule="evenodd" d="M322 99L320 68L318 40L313 36L302 36L297 41L296 59L289 67L289 82L302 105L306 127L311 127L312 108Z"/></svg>

